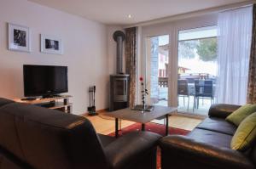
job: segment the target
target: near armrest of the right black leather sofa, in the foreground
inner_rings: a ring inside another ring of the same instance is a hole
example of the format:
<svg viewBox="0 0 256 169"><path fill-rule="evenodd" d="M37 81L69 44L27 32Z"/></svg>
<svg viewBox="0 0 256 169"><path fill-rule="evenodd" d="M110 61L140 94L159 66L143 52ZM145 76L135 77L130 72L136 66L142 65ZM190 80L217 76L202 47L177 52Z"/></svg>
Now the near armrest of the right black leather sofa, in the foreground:
<svg viewBox="0 0 256 169"><path fill-rule="evenodd" d="M177 168L254 168L253 163L239 151L196 142L186 136L173 135L161 138L160 148L163 169L171 166Z"/></svg>

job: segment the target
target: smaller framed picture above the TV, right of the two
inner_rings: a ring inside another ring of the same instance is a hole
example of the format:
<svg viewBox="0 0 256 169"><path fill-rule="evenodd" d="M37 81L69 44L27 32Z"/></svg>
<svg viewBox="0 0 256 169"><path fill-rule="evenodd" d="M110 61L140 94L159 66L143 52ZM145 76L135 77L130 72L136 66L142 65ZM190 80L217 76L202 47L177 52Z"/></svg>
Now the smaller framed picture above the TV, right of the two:
<svg viewBox="0 0 256 169"><path fill-rule="evenodd" d="M41 52L46 54L62 54L61 38L41 34Z"/></svg>

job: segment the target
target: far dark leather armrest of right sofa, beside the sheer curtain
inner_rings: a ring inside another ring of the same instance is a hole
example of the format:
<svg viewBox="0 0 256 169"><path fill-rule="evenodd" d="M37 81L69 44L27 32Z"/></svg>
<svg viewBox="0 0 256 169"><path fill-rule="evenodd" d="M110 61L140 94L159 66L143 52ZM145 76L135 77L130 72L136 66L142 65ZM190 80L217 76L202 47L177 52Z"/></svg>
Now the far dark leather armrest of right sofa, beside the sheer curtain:
<svg viewBox="0 0 256 169"><path fill-rule="evenodd" d="M212 117L226 118L233 111L237 110L240 107L241 105L235 104L212 104L208 115Z"/></svg>

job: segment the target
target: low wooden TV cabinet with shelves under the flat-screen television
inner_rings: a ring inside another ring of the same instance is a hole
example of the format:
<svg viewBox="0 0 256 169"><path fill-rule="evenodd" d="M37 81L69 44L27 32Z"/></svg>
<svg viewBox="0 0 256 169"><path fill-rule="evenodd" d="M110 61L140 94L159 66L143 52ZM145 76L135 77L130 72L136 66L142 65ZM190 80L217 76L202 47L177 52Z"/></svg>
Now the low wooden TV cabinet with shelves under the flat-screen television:
<svg viewBox="0 0 256 169"><path fill-rule="evenodd" d="M34 104L51 110L61 110L66 113L72 113L72 103L69 103L70 95L60 95L53 98L38 98L34 100L14 99L15 102L22 104Z"/></svg>

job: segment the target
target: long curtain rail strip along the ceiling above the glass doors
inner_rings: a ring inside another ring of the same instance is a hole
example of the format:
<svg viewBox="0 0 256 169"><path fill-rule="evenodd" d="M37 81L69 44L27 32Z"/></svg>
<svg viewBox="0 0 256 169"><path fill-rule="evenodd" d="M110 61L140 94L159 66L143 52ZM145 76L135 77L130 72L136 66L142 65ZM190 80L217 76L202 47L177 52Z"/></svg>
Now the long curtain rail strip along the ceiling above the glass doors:
<svg viewBox="0 0 256 169"><path fill-rule="evenodd" d="M136 26L161 24L161 23L166 23L166 22L172 22L174 20L183 20L183 19L186 19L186 18L200 16L200 15L203 15L203 14L216 14L218 12L234 10L236 8L245 8L245 7L248 7L250 5L253 5L253 3L256 3L256 0L249 0L249 1L241 2L241 3L233 3L233 4L214 7L214 8L206 8L206 9L202 9L202 10L198 10L198 11L194 11L194 12L189 12L189 13L185 13L185 14L177 14L177 15L173 15L173 16L167 16L167 17L164 17L164 18L160 18L160 19L138 22L138 23L132 24L132 25L124 25L123 29L129 28L129 27L136 27Z"/></svg>

